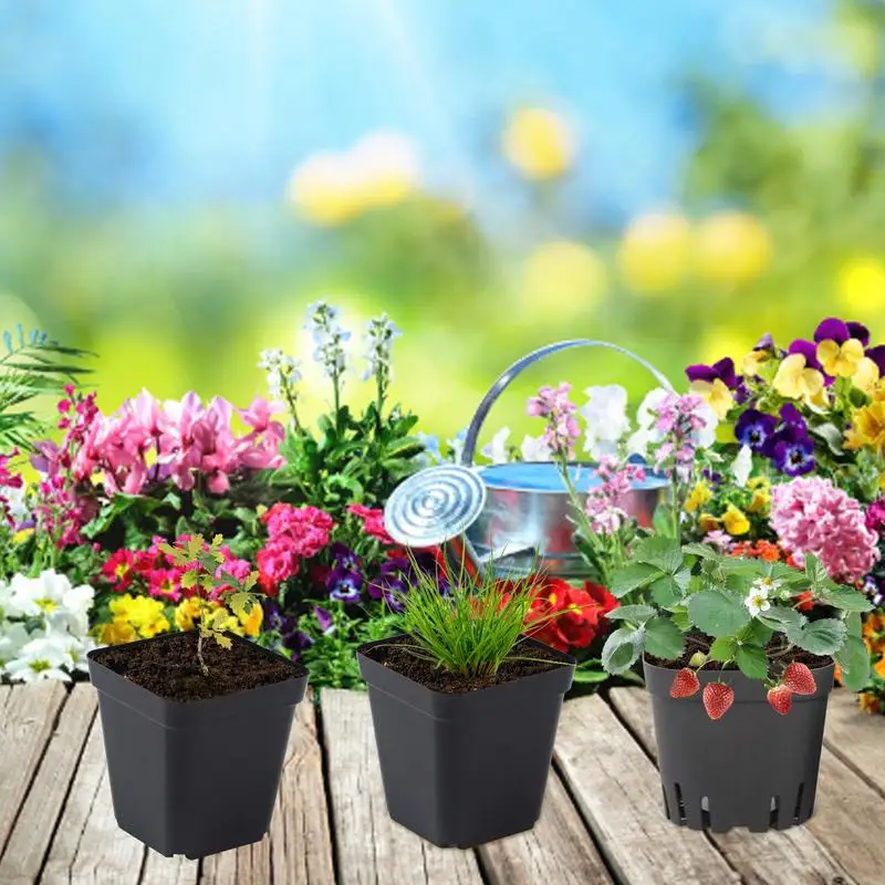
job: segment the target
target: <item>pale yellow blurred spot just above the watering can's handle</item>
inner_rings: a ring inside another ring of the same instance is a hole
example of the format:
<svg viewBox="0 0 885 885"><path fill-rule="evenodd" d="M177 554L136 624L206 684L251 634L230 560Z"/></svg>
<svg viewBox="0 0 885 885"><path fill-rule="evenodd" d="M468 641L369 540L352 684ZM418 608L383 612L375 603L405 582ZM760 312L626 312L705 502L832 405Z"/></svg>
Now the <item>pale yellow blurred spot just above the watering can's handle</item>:
<svg viewBox="0 0 885 885"><path fill-rule="evenodd" d="M605 295L607 282L605 262L589 246L551 240L523 263L523 303L532 310L592 311Z"/></svg>

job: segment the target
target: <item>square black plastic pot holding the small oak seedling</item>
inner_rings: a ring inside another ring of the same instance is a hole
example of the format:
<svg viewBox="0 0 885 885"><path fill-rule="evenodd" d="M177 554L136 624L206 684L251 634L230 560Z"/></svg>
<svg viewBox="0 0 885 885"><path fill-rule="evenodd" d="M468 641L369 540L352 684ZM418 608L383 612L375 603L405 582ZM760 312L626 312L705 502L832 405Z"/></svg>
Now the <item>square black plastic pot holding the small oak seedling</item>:
<svg viewBox="0 0 885 885"><path fill-rule="evenodd" d="M230 654L248 643L228 635ZM308 684L303 667L293 663L292 679L282 683L181 702L108 669L103 650L88 654L88 667L117 824L167 857L202 857L261 840Z"/></svg>

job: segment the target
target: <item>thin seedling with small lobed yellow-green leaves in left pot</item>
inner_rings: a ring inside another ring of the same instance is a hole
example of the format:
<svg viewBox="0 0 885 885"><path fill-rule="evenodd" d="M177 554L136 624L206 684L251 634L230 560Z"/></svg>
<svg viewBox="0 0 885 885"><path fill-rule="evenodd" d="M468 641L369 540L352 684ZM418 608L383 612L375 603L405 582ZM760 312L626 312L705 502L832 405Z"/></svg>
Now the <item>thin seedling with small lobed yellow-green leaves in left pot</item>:
<svg viewBox="0 0 885 885"><path fill-rule="evenodd" d="M230 648L230 636L223 629L228 620L225 608L210 608L209 601L223 602L241 620L247 620L252 608L260 604L260 595L253 592L258 582L258 572L250 572L242 580L223 570L226 556L221 548L225 539L217 534L211 543L207 543L202 535L195 534L181 539L173 544L160 544L159 549L166 553L176 568L181 569L180 584L187 592L194 591L194 598L199 603L200 618L197 633L197 659L204 676L209 675L209 668L202 657L205 639L212 638L222 648Z"/></svg>

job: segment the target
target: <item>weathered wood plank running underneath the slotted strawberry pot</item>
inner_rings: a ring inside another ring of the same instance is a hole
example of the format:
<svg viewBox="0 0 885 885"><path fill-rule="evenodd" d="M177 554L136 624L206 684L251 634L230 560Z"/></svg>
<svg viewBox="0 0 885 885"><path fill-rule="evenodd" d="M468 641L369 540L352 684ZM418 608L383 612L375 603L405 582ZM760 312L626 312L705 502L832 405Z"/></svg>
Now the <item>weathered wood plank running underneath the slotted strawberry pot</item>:
<svg viewBox="0 0 885 885"><path fill-rule="evenodd" d="M656 760L657 746L648 693L642 688L615 688L608 697L643 749ZM821 803L827 801L830 798L825 796L821 782L818 791L819 810ZM660 814L664 814L663 809ZM856 881L850 870L853 867L853 872L858 872L857 865L840 863L825 843L818 840L810 825L770 830L767 833L750 833L740 829L728 833L708 833L708 836L729 864L743 876L745 882L752 885L768 885L769 882L830 885L833 882Z"/></svg>

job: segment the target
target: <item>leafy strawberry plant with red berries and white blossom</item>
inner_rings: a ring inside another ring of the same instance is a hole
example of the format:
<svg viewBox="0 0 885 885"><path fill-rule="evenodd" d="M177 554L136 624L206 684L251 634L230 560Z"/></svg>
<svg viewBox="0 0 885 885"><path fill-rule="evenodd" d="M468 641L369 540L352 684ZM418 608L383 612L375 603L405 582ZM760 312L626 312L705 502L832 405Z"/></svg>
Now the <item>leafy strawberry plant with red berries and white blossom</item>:
<svg viewBox="0 0 885 885"><path fill-rule="evenodd" d="M735 693L721 676L729 669L761 681L781 715L789 712L793 695L816 690L813 671L796 658L834 659L851 690L870 677L861 613L872 605L860 591L833 581L812 554L800 570L725 555L705 544L646 538L613 575L611 592L624 604L608 613L621 626L603 648L605 669L624 673L643 654L683 663L674 674L674 698L700 689L700 670L718 670L720 679L702 695L710 719L733 704ZM801 611L809 602L815 604L813 620Z"/></svg>

